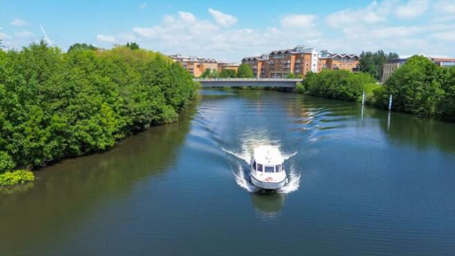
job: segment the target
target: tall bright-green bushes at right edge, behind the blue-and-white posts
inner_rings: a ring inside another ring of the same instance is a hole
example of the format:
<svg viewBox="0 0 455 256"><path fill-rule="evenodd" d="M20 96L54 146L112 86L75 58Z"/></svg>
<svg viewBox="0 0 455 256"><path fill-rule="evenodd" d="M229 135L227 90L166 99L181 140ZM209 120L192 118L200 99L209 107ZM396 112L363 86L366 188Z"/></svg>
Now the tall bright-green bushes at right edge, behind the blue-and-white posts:
<svg viewBox="0 0 455 256"><path fill-rule="evenodd" d="M413 56L375 90L376 104L393 110L455 121L455 67L443 68L423 56Z"/></svg>

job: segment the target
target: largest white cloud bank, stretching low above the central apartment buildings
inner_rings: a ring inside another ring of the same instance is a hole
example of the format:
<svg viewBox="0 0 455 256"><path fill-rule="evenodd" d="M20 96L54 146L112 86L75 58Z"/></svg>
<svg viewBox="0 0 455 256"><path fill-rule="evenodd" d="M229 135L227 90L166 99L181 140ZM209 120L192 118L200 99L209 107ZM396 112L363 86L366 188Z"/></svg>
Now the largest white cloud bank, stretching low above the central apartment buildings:
<svg viewBox="0 0 455 256"><path fill-rule="evenodd" d="M301 22L298 24L302 25ZM216 20L199 19L189 12L165 15L162 22L155 26L133 28L137 41L146 48L169 54L185 53L232 61L257 52L267 53L273 49L306 44L307 40L314 40L320 35L314 26L299 31L302 33L284 27L263 30L227 28Z"/></svg>

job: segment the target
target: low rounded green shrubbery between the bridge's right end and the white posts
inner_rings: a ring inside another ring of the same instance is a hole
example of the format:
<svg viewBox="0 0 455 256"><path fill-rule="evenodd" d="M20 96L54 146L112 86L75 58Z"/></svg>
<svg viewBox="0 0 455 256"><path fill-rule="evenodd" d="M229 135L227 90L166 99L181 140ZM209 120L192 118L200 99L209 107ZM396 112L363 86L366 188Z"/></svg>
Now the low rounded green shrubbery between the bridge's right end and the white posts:
<svg viewBox="0 0 455 256"><path fill-rule="evenodd" d="M309 73L303 81L307 94L343 101L359 100L363 90L371 84L375 84L375 80L369 74L347 70Z"/></svg>

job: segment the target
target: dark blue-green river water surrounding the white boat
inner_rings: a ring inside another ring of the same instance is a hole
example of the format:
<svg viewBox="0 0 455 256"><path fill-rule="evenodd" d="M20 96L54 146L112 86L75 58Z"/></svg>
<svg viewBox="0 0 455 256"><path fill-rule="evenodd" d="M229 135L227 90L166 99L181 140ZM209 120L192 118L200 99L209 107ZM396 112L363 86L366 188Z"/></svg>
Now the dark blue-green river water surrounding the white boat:
<svg viewBox="0 0 455 256"><path fill-rule="evenodd" d="M289 185L248 183L260 144ZM455 255L455 124L201 90L178 123L0 190L0 255Z"/></svg>

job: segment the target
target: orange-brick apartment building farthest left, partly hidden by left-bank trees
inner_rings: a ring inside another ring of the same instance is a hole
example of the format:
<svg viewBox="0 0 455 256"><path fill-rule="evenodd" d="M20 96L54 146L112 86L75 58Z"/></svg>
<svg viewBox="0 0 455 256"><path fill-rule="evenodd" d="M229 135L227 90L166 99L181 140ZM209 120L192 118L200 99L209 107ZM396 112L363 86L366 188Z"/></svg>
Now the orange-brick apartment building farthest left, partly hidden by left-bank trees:
<svg viewBox="0 0 455 256"><path fill-rule="evenodd" d="M199 58L197 56L184 56L182 54L170 55L174 62L178 62L194 77L201 76L205 69L217 70L218 62L212 58Z"/></svg>

